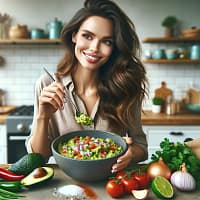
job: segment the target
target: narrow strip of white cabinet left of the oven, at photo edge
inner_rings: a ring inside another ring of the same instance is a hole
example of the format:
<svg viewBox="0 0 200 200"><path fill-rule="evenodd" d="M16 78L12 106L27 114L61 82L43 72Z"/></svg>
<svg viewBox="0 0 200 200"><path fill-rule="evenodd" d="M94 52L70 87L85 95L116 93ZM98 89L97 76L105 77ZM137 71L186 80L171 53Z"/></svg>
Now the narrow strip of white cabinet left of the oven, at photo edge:
<svg viewBox="0 0 200 200"><path fill-rule="evenodd" d="M7 134L6 125L0 125L0 164L7 163Z"/></svg>

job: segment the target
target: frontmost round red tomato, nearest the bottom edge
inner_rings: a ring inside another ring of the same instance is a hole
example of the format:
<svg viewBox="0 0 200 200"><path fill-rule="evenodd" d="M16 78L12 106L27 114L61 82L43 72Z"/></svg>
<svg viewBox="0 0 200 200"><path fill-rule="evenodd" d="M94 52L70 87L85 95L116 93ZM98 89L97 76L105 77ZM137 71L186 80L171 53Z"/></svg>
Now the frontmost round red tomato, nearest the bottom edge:
<svg viewBox="0 0 200 200"><path fill-rule="evenodd" d="M120 179L111 179L106 184L106 191L111 197L121 197L124 194L124 185Z"/></svg>

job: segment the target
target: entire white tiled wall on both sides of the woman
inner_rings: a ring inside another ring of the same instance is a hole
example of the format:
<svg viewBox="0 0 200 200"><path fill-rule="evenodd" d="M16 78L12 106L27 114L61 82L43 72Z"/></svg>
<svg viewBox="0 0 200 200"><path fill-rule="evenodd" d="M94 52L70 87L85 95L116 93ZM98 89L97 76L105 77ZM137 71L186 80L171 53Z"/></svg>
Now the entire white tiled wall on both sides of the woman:
<svg viewBox="0 0 200 200"><path fill-rule="evenodd" d="M55 70L63 50L59 45L1 45L0 55L6 60L5 66L0 67L0 88L7 91L6 103L22 105L33 104L35 81L44 73L43 67L51 72ZM200 64L145 65L150 99L161 81L167 82L176 99L184 95L191 83L200 85ZM150 99L145 102L144 109L150 109Z"/></svg>

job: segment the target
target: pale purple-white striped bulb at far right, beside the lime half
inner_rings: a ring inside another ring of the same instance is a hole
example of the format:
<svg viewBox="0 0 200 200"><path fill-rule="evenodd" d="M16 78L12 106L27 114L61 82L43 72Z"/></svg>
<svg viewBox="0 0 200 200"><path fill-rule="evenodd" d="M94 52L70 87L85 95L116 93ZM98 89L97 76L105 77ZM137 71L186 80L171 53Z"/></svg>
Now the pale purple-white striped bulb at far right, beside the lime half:
<svg viewBox="0 0 200 200"><path fill-rule="evenodd" d="M174 187L181 191L192 191L196 188L195 179L187 172L185 163L181 165L181 170L172 174L170 181Z"/></svg>

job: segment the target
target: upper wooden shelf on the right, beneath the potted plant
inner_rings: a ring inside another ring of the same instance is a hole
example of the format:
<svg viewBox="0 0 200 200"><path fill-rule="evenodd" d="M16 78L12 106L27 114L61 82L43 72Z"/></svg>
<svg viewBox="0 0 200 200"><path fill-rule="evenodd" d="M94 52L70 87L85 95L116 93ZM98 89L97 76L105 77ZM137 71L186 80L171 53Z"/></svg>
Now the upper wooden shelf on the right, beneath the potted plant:
<svg viewBox="0 0 200 200"><path fill-rule="evenodd" d="M144 38L143 43L183 43L183 42L200 42L198 38L186 38L186 37L147 37Z"/></svg>

